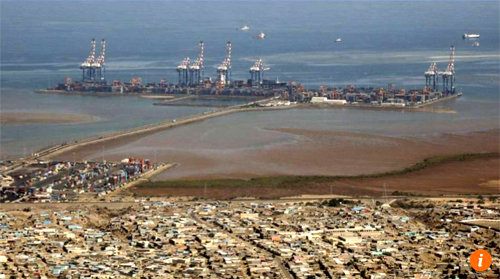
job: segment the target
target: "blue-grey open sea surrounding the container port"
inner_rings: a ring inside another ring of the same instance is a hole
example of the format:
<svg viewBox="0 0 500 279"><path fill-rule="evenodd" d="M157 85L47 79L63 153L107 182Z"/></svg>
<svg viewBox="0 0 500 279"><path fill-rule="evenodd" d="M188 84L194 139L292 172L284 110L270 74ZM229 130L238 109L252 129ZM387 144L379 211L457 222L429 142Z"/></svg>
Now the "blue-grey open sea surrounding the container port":
<svg viewBox="0 0 500 279"><path fill-rule="evenodd" d="M249 78L249 66L262 58L271 68L267 78L295 80L309 88L350 83L421 88L429 63L437 61L444 69L453 44L457 88L464 97L438 105L453 114L290 110L243 113L209 123L216 130L223 125L226 139L231 133L276 127L410 136L498 128L499 7L498 1L2 1L0 109L88 114L99 121L3 125L0 158L210 110L153 106L154 100L138 97L34 93L65 77L79 79L78 66L93 37L107 40L109 80L139 76L146 82L175 82L175 66L186 56L196 56L200 40L205 41L205 75L215 77L230 40L233 79ZM245 24L250 31L237 30ZM268 36L265 40L252 39L261 31ZM480 46L463 40L465 32L480 33ZM337 37L343 42L334 43Z"/></svg>

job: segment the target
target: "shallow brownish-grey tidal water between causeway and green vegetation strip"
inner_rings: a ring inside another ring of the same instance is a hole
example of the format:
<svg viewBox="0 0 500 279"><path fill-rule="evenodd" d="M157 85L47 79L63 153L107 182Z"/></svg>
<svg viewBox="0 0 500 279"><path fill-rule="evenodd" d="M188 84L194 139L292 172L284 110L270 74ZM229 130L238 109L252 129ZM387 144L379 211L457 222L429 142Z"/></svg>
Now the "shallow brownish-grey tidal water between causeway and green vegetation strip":
<svg viewBox="0 0 500 279"><path fill-rule="evenodd" d="M498 152L498 130L385 136L307 128L235 129L224 117L119 138L57 155L58 159L146 157L176 162L156 180L251 178L272 175L358 175L407 167L435 155ZM73 152L75 155L73 155Z"/></svg>

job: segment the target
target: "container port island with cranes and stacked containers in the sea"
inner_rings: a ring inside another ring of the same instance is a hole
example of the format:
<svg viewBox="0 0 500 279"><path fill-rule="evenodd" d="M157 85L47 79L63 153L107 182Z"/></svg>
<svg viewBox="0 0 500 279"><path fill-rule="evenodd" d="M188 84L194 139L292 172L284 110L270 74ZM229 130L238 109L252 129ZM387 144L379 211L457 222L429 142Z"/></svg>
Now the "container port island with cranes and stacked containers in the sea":
<svg viewBox="0 0 500 279"><path fill-rule="evenodd" d="M109 83L105 77L106 41L101 41L101 53L96 56L96 41L91 40L90 54L80 65L80 81L65 78L56 87L38 90L41 94L92 95L92 96L148 96L165 99L155 105L176 105L175 99L189 96L227 98L254 97L261 99L275 98L282 103L296 103L301 106L325 107L342 106L351 108L374 109L412 109L460 97L462 92L455 89L455 47L450 48L450 58L444 70L439 70L432 62L424 72L425 85L422 89L397 88L395 84L387 87L356 87L348 84L344 87L321 85L317 89L308 89L296 81L280 81L264 78L270 68L262 59L257 59L248 72L247 80L231 78L232 43L226 43L224 60L216 66L216 77L204 76L205 43L199 43L196 59L184 58L176 67L177 82L162 79L159 82L143 83L142 78L134 77L130 81L113 80ZM177 99L178 100L178 99ZM259 102L254 105L275 106L276 103Z"/></svg>

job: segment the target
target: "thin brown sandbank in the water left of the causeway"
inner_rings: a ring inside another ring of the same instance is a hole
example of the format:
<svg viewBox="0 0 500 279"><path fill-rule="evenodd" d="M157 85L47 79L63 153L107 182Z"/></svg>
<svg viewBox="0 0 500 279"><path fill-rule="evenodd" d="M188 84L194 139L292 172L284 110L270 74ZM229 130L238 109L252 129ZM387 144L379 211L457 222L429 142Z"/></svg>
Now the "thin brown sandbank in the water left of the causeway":
<svg viewBox="0 0 500 279"><path fill-rule="evenodd" d="M61 114L44 112L2 112L0 124L61 124L61 123L83 123L98 121L99 118L82 114Z"/></svg>

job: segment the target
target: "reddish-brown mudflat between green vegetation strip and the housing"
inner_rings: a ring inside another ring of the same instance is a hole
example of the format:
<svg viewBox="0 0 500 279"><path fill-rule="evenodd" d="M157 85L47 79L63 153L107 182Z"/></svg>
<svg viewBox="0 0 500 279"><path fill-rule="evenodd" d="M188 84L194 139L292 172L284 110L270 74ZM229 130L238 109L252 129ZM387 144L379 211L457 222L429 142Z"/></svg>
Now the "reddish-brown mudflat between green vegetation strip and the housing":
<svg viewBox="0 0 500 279"><path fill-rule="evenodd" d="M478 156L480 157L480 156ZM424 169L397 175L380 177L325 177L294 183L292 177L278 177L280 183L273 185L272 178L263 178L268 183L254 182L241 186L238 181L164 182L144 184L131 189L139 196L202 197L209 199L253 198L331 198L342 196L435 196L460 197L462 195L500 194L498 184L500 158L485 156L464 161L443 162ZM483 181L487 183L482 183ZM254 180L255 181L255 180ZM169 184L166 184L169 183ZM210 184L204 187L203 184ZM187 185L186 185L187 184ZM392 197L387 197L387 201Z"/></svg>

